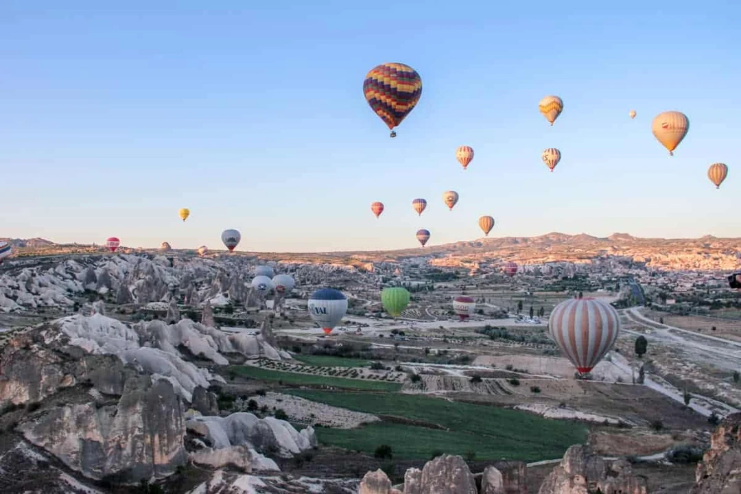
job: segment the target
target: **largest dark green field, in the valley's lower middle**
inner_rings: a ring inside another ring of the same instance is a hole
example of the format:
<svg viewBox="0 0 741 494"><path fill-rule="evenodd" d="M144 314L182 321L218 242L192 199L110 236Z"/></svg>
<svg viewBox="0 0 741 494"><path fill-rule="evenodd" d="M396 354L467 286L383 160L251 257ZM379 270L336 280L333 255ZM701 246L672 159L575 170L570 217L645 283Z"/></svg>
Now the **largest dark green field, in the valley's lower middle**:
<svg viewBox="0 0 741 494"><path fill-rule="evenodd" d="M395 458L429 458L433 451L478 459L538 461L561 457L572 444L587 440L581 424L556 421L516 410L457 403L421 395L369 395L291 390L290 394L359 412L396 415L447 427L429 429L391 422L351 430L318 427L322 444L373 453L390 444Z"/></svg>

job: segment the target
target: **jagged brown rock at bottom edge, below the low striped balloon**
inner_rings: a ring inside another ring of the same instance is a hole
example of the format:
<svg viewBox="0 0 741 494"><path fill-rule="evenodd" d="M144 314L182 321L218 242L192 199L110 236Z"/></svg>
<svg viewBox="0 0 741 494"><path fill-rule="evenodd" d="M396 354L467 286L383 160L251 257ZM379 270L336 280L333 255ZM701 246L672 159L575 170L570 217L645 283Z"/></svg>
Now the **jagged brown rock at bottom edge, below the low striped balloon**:
<svg viewBox="0 0 741 494"><path fill-rule="evenodd" d="M599 490L599 491L598 491ZM618 460L608 466L591 446L576 444L545 478L538 494L647 494L645 478L633 475L631 464Z"/></svg>

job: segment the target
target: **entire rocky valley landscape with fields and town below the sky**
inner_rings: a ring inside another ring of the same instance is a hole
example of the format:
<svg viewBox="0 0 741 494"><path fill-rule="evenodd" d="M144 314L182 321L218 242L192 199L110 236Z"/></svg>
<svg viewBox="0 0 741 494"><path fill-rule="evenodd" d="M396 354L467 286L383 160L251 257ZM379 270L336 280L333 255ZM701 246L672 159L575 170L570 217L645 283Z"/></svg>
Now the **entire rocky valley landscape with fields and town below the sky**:
<svg viewBox="0 0 741 494"><path fill-rule="evenodd" d="M741 294L728 281L738 238L549 233L348 253L1 240L13 255L0 264L0 485L735 485L726 417L741 410ZM393 287L408 298L382 300ZM326 289L347 307L330 327L308 310ZM562 302L588 298L617 310L619 335L577 372L548 324Z"/></svg>

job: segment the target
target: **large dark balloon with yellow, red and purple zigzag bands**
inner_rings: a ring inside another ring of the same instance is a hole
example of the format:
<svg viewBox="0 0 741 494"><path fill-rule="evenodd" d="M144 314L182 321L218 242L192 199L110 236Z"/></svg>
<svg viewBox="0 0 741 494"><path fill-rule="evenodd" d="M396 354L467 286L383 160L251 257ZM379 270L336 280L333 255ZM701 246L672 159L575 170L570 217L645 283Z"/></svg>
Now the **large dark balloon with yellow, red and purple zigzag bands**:
<svg viewBox="0 0 741 494"><path fill-rule="evenodd" d="M422 96L422 78L408 65L380 64L365 75L363 94L391 129L391 137L396 137L393 127L402 123Z"/></svg>

